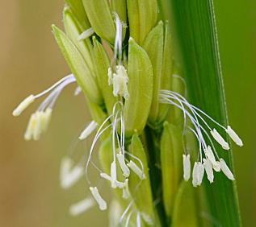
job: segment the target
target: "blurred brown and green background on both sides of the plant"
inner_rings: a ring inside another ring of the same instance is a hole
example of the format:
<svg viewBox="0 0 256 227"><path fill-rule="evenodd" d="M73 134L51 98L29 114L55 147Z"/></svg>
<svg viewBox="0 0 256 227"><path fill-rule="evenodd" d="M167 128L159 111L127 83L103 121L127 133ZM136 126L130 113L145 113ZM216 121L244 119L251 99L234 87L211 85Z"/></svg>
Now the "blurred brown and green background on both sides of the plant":
<svg viewBox="0 0 256 227"><path fill-rule="evenodd" d="M256 226L256 2L214 3L229 122L245 145L233 146L241 218ZM23 133L43 98L11 116L24 97L70 72L51 32L52 23L63 28L63 6L62 0L1 0L0 226L106 226L107 212L97 207L69 216L69 206L89 192L85 180L69 191L59 186L61 157L90 120L84 97L73 96L76 86L61 93L39 142L25 142Z"/></svg>

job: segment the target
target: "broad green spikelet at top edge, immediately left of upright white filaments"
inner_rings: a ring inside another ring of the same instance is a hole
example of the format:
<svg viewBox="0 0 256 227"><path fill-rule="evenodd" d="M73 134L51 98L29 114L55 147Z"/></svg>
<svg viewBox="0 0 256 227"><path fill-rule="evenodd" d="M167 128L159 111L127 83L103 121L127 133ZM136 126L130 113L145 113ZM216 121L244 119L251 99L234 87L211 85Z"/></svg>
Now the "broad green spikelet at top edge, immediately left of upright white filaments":
<svg viewBox="0 0 256 227"><path fill-rule="evenodd" d="M82 0L91 27L108 43L115 43L115 24L108 0Z"/></svg>

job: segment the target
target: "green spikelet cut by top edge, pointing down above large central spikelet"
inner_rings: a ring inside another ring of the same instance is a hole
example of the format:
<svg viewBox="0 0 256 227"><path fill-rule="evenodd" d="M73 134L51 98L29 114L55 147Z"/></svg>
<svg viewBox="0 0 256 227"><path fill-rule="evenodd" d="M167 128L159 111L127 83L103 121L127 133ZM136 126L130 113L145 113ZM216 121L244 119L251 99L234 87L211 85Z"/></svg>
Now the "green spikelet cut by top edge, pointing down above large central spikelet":
<svg viewBox="0 0 256 227"><path fill-rule="evenodd" d="M142 46L157 23L157 0L128 0L127 9L130 36Z"/></svg>

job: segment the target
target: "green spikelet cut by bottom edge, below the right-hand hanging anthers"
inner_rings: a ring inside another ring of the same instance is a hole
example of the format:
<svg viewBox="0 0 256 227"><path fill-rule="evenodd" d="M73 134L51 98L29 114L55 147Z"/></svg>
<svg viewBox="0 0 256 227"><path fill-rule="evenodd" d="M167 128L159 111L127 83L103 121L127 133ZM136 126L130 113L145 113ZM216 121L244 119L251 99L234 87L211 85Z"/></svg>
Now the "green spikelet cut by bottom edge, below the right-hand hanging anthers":
<svg viewBox="0 0 256 227"><path fill-rule="evenodd" d="M178 187L178 192L174 200L171 226L200 226L198 223L195 204L195 188L192 187L190 182L183 181Z"/></svg>

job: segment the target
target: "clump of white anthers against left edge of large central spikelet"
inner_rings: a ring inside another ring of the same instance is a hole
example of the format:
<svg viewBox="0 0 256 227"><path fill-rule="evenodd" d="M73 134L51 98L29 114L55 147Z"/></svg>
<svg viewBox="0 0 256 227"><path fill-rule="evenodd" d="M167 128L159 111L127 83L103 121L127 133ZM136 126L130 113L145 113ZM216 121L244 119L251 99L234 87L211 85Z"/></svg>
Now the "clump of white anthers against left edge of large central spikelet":
<svg viewBox="0 0 256 227"><path fill-rule="evenodd" d="M127 87L128 80L128 75L124 66L117 65L116 73L113 73L113 95L115 97L117 97L118 94L123 96L125 99L130 97Z"/></svg>

